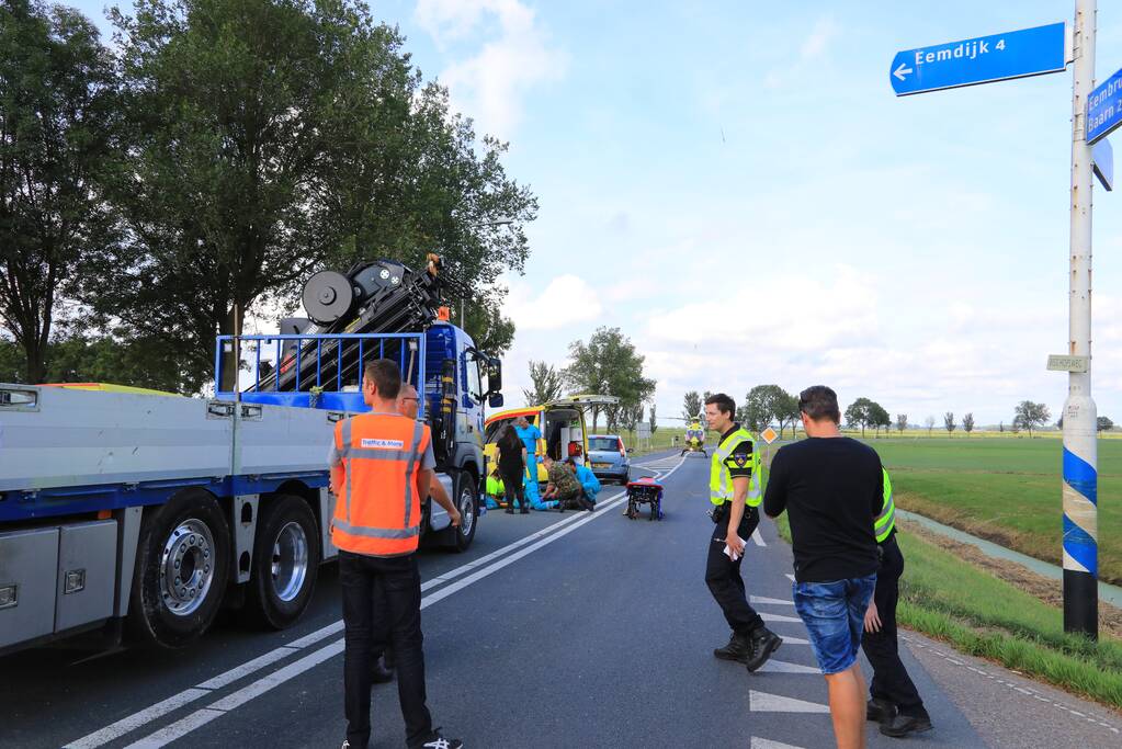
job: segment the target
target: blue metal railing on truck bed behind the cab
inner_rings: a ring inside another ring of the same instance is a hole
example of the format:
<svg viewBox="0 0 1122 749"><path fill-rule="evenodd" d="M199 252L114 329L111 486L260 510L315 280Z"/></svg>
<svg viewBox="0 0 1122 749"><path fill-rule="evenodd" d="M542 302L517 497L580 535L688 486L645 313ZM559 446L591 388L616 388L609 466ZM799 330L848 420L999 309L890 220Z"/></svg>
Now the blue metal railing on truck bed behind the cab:
<svg viewBox="0 0 1122 749"><path fill-rule="evenodd" d="M226 354L238 346L238 383L222 387ZM214 392L221 400L362 412L362 369L375 359L396 361L402 379L424 392L424 333L220 335L214 346ZM425 399L417 403L425 416Z"/></svg>

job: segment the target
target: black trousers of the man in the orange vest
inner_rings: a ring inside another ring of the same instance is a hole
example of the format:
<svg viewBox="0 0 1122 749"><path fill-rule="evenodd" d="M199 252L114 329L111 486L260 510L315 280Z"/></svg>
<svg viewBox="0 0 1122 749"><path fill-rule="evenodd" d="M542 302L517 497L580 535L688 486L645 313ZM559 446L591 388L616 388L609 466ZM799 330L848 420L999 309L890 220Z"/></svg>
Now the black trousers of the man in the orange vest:
<svg viewBox="0 0 1122 749"><path fill-rule="evenodd" d="M370 658L392 645L405 740L411 747L419 746L432 733L432 716L425 706L416 557L410 554L383 558L340 551L339 580L347 740L353 749L365 749L370 741Z"/></svg>

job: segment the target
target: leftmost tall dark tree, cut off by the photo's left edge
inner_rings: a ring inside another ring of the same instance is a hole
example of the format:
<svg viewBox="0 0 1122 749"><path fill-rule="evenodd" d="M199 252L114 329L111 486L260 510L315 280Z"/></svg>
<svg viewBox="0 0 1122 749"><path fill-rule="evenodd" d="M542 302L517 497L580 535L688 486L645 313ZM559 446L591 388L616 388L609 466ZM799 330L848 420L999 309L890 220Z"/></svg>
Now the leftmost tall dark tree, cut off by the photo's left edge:
<svg viewBox="0 0 1122 749"><path fill-rule="evenodd" d="M84 16L34 0L0 6L0 324L35 383L82 253L114 239L113 67Z"/></svg>

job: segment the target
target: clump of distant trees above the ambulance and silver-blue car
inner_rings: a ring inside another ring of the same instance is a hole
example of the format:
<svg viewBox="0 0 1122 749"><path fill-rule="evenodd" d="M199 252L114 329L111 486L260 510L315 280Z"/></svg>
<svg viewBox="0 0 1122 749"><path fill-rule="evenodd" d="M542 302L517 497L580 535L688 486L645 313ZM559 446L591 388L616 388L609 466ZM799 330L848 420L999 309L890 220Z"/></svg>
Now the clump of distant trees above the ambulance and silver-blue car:
<svg viewBox="0 0 1122 749"><path fill-rule="evenodd" d="M634 431L646 420L654 434L659 428L654 404L645 419L644 413L656 382L644 376L644 362L645 358L618 327L601 326L588 341L569 344L569 363L560 369L532 360L531 387L523 389L522 395L528 405L550 403L567 392L615 396L619 399L615 405L591 406L594 429L604 414L608 431Z"/></svg>

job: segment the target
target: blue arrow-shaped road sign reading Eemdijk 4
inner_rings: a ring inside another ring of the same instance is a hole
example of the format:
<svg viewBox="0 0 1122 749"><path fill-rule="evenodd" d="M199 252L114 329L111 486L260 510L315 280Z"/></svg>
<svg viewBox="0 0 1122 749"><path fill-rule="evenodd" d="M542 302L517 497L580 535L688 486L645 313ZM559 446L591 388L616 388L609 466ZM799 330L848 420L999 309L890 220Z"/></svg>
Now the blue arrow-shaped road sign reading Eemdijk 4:
<svg viewBox="0 0 1122 749"><path fill-rule="evenodd" d="M889 81L898 96L992 83L1067 67L1064 24L896 53Z"/></svg>

